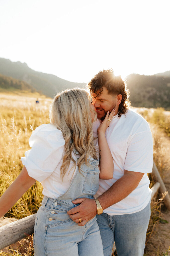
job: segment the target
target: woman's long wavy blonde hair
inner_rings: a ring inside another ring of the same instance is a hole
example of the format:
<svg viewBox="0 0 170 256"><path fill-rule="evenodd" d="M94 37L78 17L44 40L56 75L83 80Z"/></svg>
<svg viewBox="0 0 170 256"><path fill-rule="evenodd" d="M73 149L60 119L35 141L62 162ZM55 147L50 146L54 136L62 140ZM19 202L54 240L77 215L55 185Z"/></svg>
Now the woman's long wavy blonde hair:
<svg viewBox="0 0 170 256"><path fill-rule="evenodd" d="M82 164L89 165L88 158L90 156L97 160L93 142L90 99L86 90L75 88L58 93L51 103L50 123L62 132L66 143L61 165L62 179L71 160L74 163L73 167L76 167L76 161L72 157L74 149L80 156L77 161L80 173Z"/></svg>

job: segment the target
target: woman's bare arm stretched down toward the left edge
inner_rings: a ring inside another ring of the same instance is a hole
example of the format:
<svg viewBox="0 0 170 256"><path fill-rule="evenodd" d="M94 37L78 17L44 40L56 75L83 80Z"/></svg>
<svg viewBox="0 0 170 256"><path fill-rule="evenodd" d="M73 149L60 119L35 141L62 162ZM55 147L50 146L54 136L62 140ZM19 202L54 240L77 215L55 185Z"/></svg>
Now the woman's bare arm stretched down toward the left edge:
<svg viewBox="0 0 170 256"><path fill-rule="evenodd" d="M36 180L28 175L25 166L22 168L20 175L7 188L0 198L0 218L3 217L20 197L34 184Z"/></svg>

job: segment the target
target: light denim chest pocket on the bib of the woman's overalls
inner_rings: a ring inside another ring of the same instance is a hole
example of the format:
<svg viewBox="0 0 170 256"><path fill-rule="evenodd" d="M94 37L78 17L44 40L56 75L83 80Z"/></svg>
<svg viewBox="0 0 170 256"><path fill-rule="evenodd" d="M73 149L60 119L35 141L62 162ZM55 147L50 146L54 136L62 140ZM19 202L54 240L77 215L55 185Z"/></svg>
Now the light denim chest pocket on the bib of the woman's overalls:
<svg viewBox="0 0 170 256"><path fill-rule="evenodd" d="M84 194L95 194L99 187L99 170L86 170L86 177L83 185Z"/></svg>

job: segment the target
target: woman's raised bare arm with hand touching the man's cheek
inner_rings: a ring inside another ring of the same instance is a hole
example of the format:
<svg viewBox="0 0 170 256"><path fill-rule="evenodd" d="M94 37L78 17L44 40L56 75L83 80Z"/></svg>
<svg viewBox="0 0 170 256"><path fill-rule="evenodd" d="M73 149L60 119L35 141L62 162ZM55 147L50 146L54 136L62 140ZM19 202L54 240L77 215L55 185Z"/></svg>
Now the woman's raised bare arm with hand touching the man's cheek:
<svg viewBox="0 0 170 256"><path fill-rule="evenodd" d="M104 121L100 124L100 126L97 129L99 154L101 157L100 163L99 163L100 179L113 178L113 171L114 171L113 158L110 153L108 143L106 141L105 132L107 127L110 124L110 121L108 121L108 119L110 120L112 119L114 112L115 112L114 109L111 111L110 115L109 115L109 112L107 112L107 115Z"/></svg>

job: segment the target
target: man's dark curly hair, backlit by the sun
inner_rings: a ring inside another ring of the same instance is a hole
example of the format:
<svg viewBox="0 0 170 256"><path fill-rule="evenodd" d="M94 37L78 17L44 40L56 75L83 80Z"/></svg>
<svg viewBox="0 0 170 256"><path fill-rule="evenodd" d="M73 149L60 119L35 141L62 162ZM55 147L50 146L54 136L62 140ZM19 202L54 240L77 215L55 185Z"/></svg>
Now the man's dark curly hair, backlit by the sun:
<svg viewBox="0 0 170 256"><path fill-rule="evenodd" d="M115 76L112 69L102 70L94 76L87 85L90 93L95 93L96 97L101 95L102 87L108 90L108 94L121 94L122 101L119 105L119 117L124 114L131 104L129 101L130 92L127 90L126 82L122 80L121 76ZM96 93L98 91L98 93Z"/></svg>

